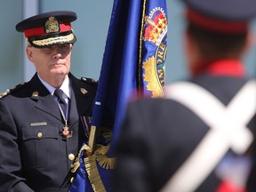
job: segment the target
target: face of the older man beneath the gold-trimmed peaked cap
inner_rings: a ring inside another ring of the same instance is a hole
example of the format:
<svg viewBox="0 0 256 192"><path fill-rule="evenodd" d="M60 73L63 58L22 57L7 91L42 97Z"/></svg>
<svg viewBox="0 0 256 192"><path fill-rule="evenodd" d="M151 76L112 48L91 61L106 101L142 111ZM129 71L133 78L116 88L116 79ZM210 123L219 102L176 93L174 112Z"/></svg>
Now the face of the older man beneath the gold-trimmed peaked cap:
<svg viewBox="0 0 256 192"><path fill-rule="evenodd" d="M54 76L67 76L70 70L72 44L52 45L48 48L27 47L28 59L45 81Z"/></svg>

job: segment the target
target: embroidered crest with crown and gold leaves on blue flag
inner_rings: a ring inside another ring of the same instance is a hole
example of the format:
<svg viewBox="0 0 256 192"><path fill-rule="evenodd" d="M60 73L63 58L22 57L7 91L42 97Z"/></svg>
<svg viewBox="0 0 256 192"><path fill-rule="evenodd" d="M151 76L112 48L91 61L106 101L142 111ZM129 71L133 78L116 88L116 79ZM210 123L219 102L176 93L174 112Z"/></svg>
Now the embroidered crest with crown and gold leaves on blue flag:
<svg viewBox="0 0 256 192"><path fill-rule="evenodd" d="M142 60L143 80L147 83L147 91L151 92L152 98L164 95L167 24L164 9L160 7L156 7L144 17L143 44L145 47L152 48L152 50L148 51L149 53Z"/></svg>

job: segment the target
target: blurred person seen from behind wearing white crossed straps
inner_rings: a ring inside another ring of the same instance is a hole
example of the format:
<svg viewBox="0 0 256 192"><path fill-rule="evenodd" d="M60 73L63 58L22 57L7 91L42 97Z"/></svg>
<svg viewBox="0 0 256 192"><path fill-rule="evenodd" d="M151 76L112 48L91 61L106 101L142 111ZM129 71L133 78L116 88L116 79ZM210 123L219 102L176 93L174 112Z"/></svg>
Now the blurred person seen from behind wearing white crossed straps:
<svg viewBox="0 0 256 192"><path fill-rule="evenodd" d="M129 105L116 143L114 191L256 191L247 187L256 84L242 62L256 2L183 2L191 78L166 85L162 99Z"/></svg>

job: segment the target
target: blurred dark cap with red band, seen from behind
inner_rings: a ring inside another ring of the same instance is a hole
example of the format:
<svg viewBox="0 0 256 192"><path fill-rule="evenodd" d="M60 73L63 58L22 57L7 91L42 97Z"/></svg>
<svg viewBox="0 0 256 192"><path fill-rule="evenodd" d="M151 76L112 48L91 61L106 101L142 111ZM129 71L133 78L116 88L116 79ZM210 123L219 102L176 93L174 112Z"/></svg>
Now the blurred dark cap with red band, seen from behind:
<svg viewBox="0 0 256 192"><path fill-rule="evenodd" d="M256 15L255 0L182 0L187 19L199 27L223 33L240 33Z"/></svg>

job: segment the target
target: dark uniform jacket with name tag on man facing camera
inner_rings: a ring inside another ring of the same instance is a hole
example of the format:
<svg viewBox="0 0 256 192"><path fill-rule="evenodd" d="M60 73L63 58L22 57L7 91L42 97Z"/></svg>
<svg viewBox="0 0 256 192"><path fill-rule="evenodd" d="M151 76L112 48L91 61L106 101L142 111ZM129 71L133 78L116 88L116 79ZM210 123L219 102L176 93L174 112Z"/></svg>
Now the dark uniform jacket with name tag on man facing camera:
<svg viewBox="0 0 256 192"><path fill-rule="evenodd" d="M97 84L69 74L68 140L52 95L35 75L0 99L0 191L68 191L70 164L85 140L80 116L92 116ZM85 78L84 78L85 79Z"/></svg>

